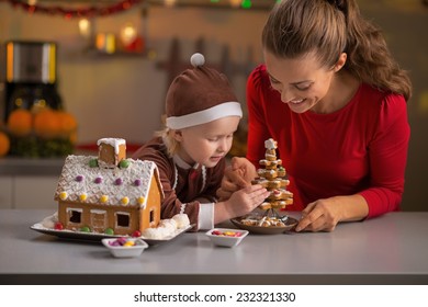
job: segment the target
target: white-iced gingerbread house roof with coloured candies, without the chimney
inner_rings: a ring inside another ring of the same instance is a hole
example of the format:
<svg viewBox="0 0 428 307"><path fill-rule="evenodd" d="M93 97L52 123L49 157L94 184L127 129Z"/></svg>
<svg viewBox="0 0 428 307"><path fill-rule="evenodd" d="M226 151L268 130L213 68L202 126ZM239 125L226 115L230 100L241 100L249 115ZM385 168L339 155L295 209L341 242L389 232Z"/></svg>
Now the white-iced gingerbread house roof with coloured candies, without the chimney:
<svg viewBox="0 0 428 307"><path fill-rule="evenodd" d="M55 200L145 207L153 180L157 181L164 197L155 162L126 159L126 163L121 167L106 169L100 168L97 160L97 157L90 156L68 156L58 180Z"/></svg>

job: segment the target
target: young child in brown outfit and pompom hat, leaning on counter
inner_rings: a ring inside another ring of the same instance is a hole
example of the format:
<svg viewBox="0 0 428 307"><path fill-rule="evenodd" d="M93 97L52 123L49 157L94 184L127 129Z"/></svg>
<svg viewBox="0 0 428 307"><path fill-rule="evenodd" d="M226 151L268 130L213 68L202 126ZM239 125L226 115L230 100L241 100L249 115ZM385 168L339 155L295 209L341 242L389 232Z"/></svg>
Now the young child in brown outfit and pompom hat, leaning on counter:
<svg viewBox="0 0 428 307"><path fill-rule="evenodd" d="M226 76L204 62L201 54L191 57L193 68L178 76L168 90L166 128L133 155L159 169L165 193L161 218L185 213L196 225L193 230L250 213L269 195L254 185L225 202L216 201L243 111Z"/></svg>

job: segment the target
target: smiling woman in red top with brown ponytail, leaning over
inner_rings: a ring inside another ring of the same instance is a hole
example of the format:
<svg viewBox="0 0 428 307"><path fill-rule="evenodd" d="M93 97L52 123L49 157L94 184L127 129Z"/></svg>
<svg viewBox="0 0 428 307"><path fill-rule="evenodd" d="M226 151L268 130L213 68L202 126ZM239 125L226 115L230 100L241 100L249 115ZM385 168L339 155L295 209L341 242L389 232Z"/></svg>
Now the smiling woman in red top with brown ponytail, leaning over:
<svg viewBox="0 0 428 307"><path fill-rule="evenodd" d="M272 137L294 193L286 209L302 211L296 231L398 209L412 86L356 1L281 1L262 48L247 83L248 160L233 160L218 196L250 184Z"/></svg>

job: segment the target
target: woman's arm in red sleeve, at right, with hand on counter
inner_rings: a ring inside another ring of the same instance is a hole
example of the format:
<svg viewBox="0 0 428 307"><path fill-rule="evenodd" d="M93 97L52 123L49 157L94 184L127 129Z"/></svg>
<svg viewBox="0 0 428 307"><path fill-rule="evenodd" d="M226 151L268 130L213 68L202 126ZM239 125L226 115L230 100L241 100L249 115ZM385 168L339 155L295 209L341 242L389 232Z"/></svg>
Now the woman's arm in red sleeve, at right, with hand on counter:
<svg viewBox="0 0 428 307"><path fill-rule="evenodd" d="M331 231L340 221L361 220L398 209L410 133L404 99L387 95L382 101L379 116L374 117L375 128L368 148L370 186L354 195L307 204L297 231Z"/></svg>

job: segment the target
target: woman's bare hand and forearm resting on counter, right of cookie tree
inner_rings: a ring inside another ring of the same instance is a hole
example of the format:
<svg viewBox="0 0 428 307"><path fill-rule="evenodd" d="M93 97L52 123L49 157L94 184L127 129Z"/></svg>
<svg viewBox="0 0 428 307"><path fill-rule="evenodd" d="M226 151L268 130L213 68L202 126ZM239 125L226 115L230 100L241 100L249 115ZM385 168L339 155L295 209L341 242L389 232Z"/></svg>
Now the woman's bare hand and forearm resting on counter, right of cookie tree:
<svg viewBox="0 0 428 307"><path fill-rule="evenodd" d="M359 195L315 201L302 211L296 231L333 231L339 221L363 219L369 214L365 200Z"/></svg>

